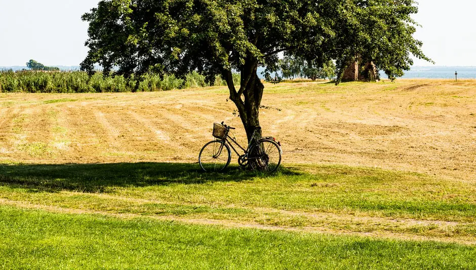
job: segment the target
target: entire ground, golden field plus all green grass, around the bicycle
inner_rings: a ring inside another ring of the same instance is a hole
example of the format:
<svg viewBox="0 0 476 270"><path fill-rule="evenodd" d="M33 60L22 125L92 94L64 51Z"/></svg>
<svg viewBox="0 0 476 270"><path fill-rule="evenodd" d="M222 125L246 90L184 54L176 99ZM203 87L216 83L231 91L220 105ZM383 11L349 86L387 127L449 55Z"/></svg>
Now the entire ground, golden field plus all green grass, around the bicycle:
<svg viewBox="0 0 476 270"><path fill-rule="evenodd" d="M276 175L200 172L227 93L0 93L0 265L476 267L476 81L266 84Z"/></svg>

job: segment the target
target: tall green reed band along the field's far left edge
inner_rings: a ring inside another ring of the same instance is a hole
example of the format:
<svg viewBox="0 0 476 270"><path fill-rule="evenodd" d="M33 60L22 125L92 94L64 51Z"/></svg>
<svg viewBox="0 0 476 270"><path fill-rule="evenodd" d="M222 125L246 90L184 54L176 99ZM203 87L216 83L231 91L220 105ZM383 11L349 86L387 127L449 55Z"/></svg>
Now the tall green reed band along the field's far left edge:
<svg viewBox="0 0 476 270"><path fill-rule="evenodd" d="M240 84L240 75L234 74L235 85ZM226 85L221 76L216 76L213 86ZM144 74L139 78L132 75L126 79L122 75L104 76L97 72L89 76L83 71L0 71L0 92L29 93L106 93L106 92L150 92L169 91L179 88L199 88L210 86L205 76L193 71L185 80L174 75L163 78L156 74Z"/></svg>

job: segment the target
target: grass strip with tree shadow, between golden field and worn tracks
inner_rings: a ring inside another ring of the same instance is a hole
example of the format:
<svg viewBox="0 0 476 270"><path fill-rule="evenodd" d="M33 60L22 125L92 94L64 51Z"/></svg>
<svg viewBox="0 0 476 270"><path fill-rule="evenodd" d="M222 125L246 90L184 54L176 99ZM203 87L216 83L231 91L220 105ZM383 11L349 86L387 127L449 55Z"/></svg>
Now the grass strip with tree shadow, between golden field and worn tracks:
<svg viewBox="0 0 476 270"><path fill-rule="evenodd" d="M41 201L53 195L61 201L62 191L75 191L85 198L108 194L177 204L476 220L476 187L461 181L346 166L288 167L277 175L237 168L210 174L197 167L169 163L0 165L0 196Z"/></svg>

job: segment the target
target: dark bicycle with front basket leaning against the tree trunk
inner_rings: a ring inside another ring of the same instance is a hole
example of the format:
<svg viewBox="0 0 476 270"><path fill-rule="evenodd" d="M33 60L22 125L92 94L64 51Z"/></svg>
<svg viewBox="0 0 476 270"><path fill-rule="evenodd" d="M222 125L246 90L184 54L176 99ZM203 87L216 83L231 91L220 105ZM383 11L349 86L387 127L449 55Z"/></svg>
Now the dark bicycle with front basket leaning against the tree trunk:
<svg viewBox="0 0 476 270"><path fill-rule="evenodd" d="M253 131L253 136L248 142L248 147L243 148L233 137L229 136L230 130L235 128L221 124L213 124L213 137L216 140L210 141L202 148L199 155L199 163L202 170L205 172L220 172L223 171L231 161L231 149L236 153L238 164L241 168L250 167L252 170L259 170L265 172L275 172L281 165L282 149L281 143L276 142L273 137L255 138L257 131L261 128L256 128ZM233 147L233 142L240 147L245 153L240 153Z"/></svg>

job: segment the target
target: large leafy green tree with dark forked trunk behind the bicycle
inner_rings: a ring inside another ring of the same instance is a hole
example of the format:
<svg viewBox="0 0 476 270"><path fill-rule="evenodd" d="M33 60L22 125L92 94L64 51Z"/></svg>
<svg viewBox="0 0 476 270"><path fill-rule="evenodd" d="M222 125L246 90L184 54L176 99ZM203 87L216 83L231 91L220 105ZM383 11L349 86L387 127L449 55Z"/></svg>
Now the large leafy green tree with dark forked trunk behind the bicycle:
<svg viewBox="0 0 476 270"><path fill-rule="evenodd" d="M276 70L285 53L318 65L335 59L343 69L359 54L394 78L411 54L427 59L412 36L416 12L412 0L104 0L83 16L90 51L81 66L117 66L126 76L220 74L250 138L260 126L258 66Z"/></svg>

